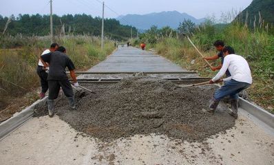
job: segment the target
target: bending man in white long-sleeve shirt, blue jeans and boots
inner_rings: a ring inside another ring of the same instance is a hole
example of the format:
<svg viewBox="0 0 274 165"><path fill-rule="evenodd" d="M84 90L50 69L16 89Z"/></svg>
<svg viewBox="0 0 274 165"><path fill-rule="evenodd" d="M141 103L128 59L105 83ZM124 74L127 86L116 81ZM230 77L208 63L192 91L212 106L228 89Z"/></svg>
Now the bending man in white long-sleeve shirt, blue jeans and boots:
<svg viewBox="0 0 274 165"><path fill-rule="evenodd" d="M232 47L224 47L224 63L220 72L209 81L210 84L224 81L224 85L217 89L211 99L207 112L214 113L220 100L225 96L231 97L231 115L238 118L238 94L252 84L251 70L247 61L236 55ZM222 79L226 69L229 69L230 77Z"/></svg>

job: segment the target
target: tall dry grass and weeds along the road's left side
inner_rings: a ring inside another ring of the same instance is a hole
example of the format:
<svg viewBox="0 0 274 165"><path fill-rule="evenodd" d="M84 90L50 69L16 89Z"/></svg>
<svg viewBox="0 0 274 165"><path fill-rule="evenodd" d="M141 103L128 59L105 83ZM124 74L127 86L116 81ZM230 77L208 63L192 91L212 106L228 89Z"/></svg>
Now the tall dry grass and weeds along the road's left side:
<svg viewBox="0 0 274 165"><path fill-rule="evenodd" d="M0 122L39 99L39 76L36 66L43 50L50 47L48 36L5 36L6 45L21 43L16 49L0 50ZM56 43L67 48L77 71L89 69L111 54L114 42L101 41L95 36L63 36Z"/></svg>

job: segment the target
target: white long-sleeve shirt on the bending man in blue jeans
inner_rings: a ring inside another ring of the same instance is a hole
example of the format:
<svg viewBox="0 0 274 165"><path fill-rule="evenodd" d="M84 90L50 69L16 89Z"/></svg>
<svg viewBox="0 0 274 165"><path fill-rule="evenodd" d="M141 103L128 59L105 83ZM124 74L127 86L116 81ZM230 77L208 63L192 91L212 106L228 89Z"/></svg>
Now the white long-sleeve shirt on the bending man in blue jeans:
<svg viewBox="0 0 274 165"><path fill-rule="evenodd" d="M236 80L238 82L252 84L251 70L249 68L249 63L242 56L236 54L229 54L224 57L224 63L222 68L216 74L212 80L215 82L224 76L226 69L229 69L231 74L230 77L224 78L224 81L227 80Z"/></svg>

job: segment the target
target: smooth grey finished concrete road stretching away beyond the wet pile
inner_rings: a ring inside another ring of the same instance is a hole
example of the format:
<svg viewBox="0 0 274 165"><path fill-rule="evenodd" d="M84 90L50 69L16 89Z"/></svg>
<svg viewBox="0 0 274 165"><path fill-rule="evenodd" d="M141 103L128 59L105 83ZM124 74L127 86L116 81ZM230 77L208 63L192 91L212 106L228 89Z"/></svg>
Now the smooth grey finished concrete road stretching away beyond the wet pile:
<svg viewBox="0 0 274 165"><path fill-rule="evenodd" d="M105 61L92 67L92 72L184 72L161 56L134 47L118 47Z"/></svg>

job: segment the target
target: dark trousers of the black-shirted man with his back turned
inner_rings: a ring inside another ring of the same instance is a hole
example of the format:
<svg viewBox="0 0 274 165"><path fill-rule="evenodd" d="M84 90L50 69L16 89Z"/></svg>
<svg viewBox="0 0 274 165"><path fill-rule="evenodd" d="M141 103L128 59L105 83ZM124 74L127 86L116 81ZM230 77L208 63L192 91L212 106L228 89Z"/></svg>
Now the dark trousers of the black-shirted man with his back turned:
<svg viewBox="0 0 274 165"><path fill-rule="evenodd" d="M48 80L49 94L48 99L54 100L58 97L60 87L62 87L63 92L67 98L74 96L72 85L70 85L69 80Z"/></svg>

